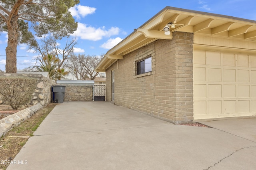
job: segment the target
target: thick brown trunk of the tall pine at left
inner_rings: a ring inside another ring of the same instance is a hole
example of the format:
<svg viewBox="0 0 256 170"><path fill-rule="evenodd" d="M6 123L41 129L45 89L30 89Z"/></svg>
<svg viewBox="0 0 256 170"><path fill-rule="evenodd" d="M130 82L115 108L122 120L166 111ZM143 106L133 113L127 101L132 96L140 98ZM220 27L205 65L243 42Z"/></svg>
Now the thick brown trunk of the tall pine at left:
<svg viewBox="0 0 256 170"><path fill-rule="evenodd" d="M10 22L7 24L8 28L8 43L6 51L6 73L17 72L17 45L18 45L18 16L13 15Z"/></svg>

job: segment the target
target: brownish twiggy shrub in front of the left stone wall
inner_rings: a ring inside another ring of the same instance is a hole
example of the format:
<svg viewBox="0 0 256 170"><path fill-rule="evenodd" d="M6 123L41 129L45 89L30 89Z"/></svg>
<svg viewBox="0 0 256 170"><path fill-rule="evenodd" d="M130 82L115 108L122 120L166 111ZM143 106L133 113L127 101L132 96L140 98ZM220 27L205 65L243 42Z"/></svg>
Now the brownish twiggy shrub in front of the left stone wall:
<svg viewBox="0 0 256 170"><path fill-rule="evenodd" d="M30 102L37 79L29 77L0 77L0 96L13 110Z"/></svg>

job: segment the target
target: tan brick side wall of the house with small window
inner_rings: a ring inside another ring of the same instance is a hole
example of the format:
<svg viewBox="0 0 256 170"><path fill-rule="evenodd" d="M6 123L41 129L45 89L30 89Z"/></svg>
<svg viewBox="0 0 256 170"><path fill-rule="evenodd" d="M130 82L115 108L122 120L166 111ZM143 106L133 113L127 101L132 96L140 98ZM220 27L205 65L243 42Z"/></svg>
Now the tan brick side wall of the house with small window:
<svg viewBox="0 0 256 170"><path fill-rule="evenodd" d="M118 60L106 71L106 100L111 101L115 70L116 105L172 123L193 121L193 34L174 32ZM152 72L136 75L136 61L152 56Z"/></svg>

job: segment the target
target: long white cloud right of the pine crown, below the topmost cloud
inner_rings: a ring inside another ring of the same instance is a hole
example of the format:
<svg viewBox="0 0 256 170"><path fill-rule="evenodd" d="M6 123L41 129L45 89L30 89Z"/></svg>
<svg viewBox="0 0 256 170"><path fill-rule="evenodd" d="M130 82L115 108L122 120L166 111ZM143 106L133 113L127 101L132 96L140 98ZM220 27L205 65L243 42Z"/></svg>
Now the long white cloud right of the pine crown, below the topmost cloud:
<svg viewBox="0 0 256 170"><path fill-rule="evenodd" d="M82 40L98 41L103 37L118 35L119 32L120 29L118 27L111 27L106 30L104 26L102 28L94 28L92 26L86 26L86 24L78 23L78 28L72 36L80 37Z"/></svg>

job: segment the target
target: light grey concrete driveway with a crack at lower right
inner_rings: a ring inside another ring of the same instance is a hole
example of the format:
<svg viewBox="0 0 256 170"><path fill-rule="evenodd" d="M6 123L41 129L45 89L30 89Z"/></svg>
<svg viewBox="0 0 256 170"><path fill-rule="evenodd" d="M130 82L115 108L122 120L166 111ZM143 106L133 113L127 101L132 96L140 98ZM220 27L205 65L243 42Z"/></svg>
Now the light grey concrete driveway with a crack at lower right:
<svg viewBox="0 0 256 170"><path fill-rule="evenodd" d="M7 170L254 170L256 119L243 121L191 127L108 102L64 102Z"/></svg>

